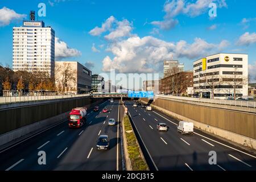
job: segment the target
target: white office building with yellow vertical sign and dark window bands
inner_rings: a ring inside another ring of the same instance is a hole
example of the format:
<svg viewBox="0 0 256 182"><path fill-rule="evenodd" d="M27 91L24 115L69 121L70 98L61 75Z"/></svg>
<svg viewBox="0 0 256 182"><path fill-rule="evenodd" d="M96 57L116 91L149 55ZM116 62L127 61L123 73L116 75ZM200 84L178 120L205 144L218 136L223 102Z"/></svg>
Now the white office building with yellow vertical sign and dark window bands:
<svg viewBox="0 0 256 182"><path fill-rule="evenodd" d="M247 96L247 80L247 54L218 53L193 62L193 92L199 97Z"/></svg>

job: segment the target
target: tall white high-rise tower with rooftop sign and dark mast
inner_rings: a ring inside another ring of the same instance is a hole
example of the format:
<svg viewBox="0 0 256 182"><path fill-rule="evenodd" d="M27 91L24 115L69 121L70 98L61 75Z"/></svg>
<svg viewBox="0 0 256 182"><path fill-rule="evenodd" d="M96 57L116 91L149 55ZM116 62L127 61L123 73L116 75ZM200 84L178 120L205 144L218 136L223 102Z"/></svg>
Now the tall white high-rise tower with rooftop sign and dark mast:
<svg viewBox="0 0 256 182"><path fill-rule="evenodd" d="M46 72L53 77L54 64L55 31L43 21L35 21L35 12L31 11L30 20L13 27L13 70Z"/></svg>

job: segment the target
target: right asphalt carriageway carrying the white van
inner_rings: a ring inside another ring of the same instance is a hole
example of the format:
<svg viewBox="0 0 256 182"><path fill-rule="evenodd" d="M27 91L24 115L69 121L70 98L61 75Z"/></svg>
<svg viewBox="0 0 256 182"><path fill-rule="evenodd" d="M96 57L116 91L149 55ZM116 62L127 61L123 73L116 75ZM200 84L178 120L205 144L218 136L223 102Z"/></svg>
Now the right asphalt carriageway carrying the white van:
<svg viewBox="0 0 256 182"><path fill-rule="evenodd" d="M134 101L125 101L141 136L152 170L174 171L247 171L256 170L256 155L224 140L194 129L193 135L177 132L177 121L157 110L146 111L133 107ZM164 122L167 132L156 130L156 124ZM209 152L217 154L216 164L209 164Z"/></svg>

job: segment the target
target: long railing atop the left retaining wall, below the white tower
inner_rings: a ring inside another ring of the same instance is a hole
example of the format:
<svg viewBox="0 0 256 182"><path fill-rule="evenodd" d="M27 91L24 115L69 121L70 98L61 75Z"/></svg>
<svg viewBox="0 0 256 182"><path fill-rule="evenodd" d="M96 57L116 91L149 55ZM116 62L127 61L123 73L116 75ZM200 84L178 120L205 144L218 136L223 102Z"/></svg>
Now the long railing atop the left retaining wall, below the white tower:
<svg viewBox="0 0 256 182"><path fill-rule="evenodd" d="M77 94L77 95L61 95L61 96L15 96L15 97L0 97L0 104L9 104L15 102L30 102L42 100L55 100L63 98L87 97L90 94Z"/></svg>

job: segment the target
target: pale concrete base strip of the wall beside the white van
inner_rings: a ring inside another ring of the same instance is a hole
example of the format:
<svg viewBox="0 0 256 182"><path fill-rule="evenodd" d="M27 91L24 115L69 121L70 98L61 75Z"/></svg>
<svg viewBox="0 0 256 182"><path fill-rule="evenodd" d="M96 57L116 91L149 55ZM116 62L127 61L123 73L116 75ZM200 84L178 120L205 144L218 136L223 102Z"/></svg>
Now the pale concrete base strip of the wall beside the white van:
<svg viewBox="0 0 256 182"><path fill-rule="evenodd" d="M143 101L143 100L141 100L141 102L143 104L148 103L148 102ZM193 122L195 127L197 127L200 130L206 131L207 133L219 136L221 138L228 139L231 142L238 143L238 144L241 144L242 146L253 148L254 150L256 150L256 140L253 139L253 138L249 138L249 137L237 134L237 133L233 133L233 132L228 131L228 130L220 129L218 127L214 127L214 126L211 126L211 125L207 125L205 123L195 121L191 118L184 117L183 115L174 113L174 112L172 112L170 110L167 110L167 109L163 109L162 107L156 106L154 104L151 104L151 106L152 106L152 108L154 108L156 110L159 110L159 111L162 111L164 114L171 115L172 117L175 117L175 118L179 119L180 121Z"/></svg>

